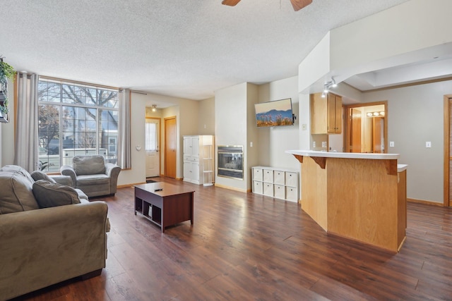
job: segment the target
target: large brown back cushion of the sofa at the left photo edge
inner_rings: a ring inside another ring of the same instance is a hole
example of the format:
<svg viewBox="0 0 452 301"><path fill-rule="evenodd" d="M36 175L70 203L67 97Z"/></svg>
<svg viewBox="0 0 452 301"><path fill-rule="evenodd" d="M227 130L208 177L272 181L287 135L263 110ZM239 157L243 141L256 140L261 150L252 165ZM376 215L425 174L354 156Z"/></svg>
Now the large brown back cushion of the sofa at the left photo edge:
<svg viewBox="0 0 452 301"><path fill-rule="evenodd" d="M39 206L30 180L17 171L0 171L0 214L33 209Z"/></svg>

